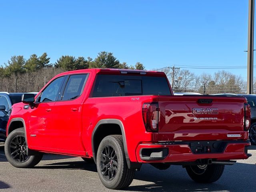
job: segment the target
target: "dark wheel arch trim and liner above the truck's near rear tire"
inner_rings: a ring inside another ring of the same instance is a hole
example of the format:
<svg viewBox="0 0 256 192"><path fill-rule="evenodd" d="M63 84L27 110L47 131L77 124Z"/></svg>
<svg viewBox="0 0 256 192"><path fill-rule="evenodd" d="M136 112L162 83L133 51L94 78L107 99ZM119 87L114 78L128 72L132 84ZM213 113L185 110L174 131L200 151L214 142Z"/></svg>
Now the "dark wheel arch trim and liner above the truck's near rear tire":
<svg viewBox="0 0 256 192"><path fill-rule="evenodd" d="M124 131L124 125L122 124L122 121L120 121L119 119L103 119L100 120L96 126L94 127L94 130L92 132L92 154L93 154L93 159L94 162L96 163L96 154L98 151L98 146L97 146L97 135L99 134L99 131L102 130L104 128L104 126L116 126L114 129L115 131L120 131L119 134L122 134L122 138L123 138L123 142L124 142L124 154L125 154L125 158L126 158L126 162L128 167L131 167L131 162L130 162L130 158L128 156L128 150L127 150L127 144L126 144L126 136L125 136L125 131ZM118 130L119 127L119 130ZM105 127L106 128L106 127ZM107 136L107 135L111 135L112 133L110 132L110 134L104 134L103 136ZM114 133L116 134L116 133ZM102 140L103 138L101 138ZM100 141L101 141L100 140Z"/></svg>

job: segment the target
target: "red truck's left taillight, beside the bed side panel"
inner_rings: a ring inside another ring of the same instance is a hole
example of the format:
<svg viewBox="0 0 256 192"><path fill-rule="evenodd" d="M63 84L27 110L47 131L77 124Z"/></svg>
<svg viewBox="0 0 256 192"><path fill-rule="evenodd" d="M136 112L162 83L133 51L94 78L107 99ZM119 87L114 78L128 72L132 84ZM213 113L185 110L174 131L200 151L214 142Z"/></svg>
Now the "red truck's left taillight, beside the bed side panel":
<svg viewBox="0 0 256 192"><path fill-rule="evenodd" d="M142 118L148 132L158 131L158 103L144 103L142 105Z"/></svg>

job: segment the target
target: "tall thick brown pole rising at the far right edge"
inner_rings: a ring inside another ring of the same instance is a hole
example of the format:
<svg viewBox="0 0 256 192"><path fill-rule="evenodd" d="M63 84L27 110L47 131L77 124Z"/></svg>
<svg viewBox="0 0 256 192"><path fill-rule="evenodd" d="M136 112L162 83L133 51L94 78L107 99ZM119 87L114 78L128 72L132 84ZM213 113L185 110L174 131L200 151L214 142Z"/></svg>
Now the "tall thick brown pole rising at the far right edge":
<svg viewBox="0 0 256 192"><path fill-rule="evenodd" d="M249 0L248 12L247 94L253 94L254 0Z"/></svg>

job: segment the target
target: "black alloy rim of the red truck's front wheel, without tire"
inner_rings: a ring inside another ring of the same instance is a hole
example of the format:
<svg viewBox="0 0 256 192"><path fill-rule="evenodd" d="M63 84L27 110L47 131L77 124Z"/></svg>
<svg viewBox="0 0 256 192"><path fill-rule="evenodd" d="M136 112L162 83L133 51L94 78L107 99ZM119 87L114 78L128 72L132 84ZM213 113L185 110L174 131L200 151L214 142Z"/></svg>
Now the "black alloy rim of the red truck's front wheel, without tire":
<svg viewBox="0 0 256 192"><path fill-rule="evenodd" d="M23 135L12 138L9 146L11 157L17 162L26 162L30 156L26 155L26 141Z"/></svg>

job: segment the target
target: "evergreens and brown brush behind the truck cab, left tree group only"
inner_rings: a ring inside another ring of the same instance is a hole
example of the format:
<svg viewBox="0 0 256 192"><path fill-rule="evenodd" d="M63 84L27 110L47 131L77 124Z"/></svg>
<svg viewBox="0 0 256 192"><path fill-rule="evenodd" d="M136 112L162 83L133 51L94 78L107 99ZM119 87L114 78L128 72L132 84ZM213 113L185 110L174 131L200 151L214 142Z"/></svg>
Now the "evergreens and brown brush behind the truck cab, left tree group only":
<svg viewBox="0 0 256 192"><path fill-rule="evenodd" d="M24 56L12 56L7 63L0 66L0 91L6 92L38 92L46 80L50 80L56 74L70 70L88 68L122 68L145 70L142 63L128 66L126 62L120 62L111 52L99 52L97 57L84 58L79 56L61 56L55 63L50 63L47 53L41 56L30 55L28 59Z"/></svg>

